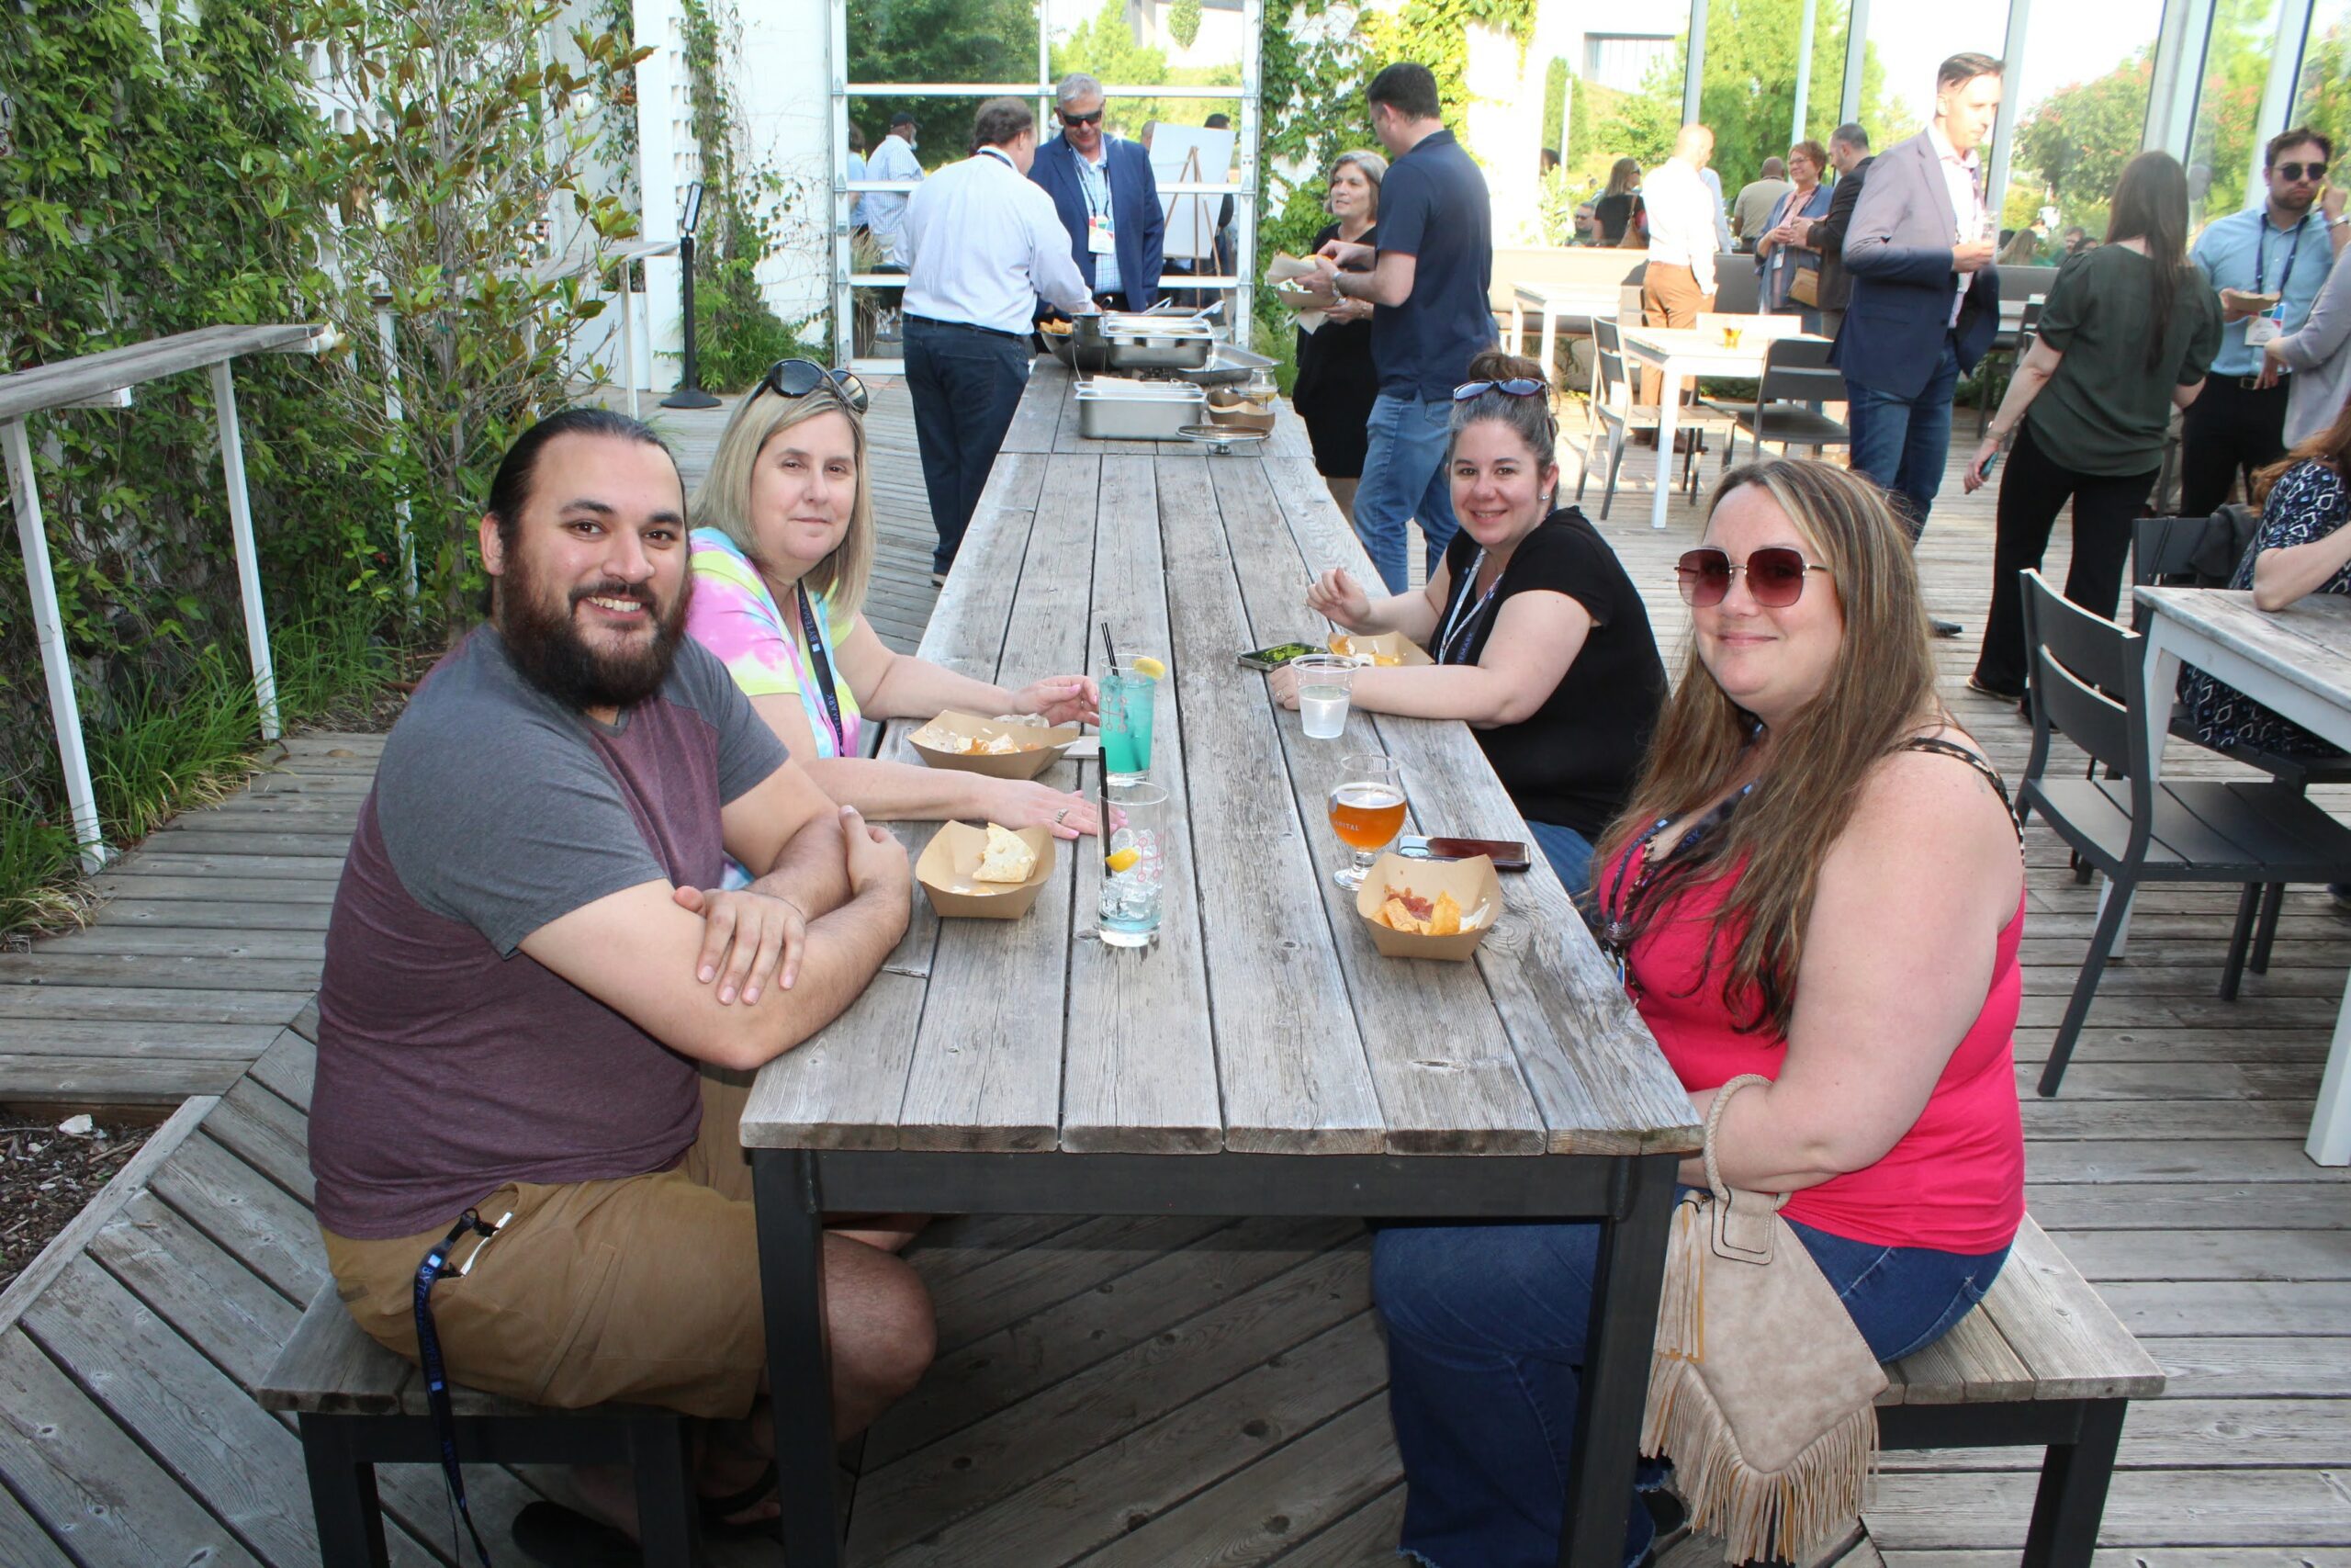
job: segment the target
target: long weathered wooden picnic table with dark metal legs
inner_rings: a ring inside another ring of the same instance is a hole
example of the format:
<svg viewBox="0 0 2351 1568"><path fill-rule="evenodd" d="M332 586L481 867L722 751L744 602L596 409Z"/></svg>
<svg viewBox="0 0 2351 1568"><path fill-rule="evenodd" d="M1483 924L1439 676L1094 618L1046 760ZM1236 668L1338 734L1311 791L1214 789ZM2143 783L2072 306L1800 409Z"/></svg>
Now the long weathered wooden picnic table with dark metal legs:
<svg viewBox="0 0 2351 1568"><path fill-rule="evenodd" d="M759 1072L743 1143L788 1559L842 1561L830 1208L1599 1220L1561 1563L1613 1566L1690 1103L1540 856L1472 964L1382 959L1331 886L1324 797L1354 750L1404 762L1420 832L1523 832L1467 726L1349 715L1345 741L1307 741L1234 663L1326 630L1310 569L1368 571L1295 414L1260 454L1201 456L1084 442L1067 393L1037 362L922 654L983 679L1098 672L1110 621L1121 651L1168 658L1166 924L1147 950L1096 940L1100 860L1065 844L1025 919L938 922L917 898L865 997ZM912 759L903 729L882 755Z"/></svg>

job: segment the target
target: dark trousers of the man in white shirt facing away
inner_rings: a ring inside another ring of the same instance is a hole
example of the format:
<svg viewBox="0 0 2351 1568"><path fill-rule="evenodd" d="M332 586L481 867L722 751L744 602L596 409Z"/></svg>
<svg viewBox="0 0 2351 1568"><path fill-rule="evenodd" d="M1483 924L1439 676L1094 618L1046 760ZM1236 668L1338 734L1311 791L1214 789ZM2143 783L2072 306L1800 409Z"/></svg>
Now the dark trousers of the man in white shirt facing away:
<svg viewBox="0 0 2351 1568"><path fill-rule="evenodd" d="M1030 346L1006 331L905 317L905 390L915 400L922 484L931 491L931 527L938 529L933 571L952 567L964 545L1032 357Z"/></svg>

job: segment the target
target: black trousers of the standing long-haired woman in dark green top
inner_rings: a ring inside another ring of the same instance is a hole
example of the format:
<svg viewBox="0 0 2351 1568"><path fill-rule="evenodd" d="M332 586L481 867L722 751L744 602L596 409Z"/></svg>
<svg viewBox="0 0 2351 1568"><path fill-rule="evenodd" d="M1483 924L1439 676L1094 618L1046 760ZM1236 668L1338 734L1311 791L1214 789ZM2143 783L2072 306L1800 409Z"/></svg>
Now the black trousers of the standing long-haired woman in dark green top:
<svg viewBox="0 0 2351 1568"><path fill-rule="evenodd" d="M2001 510L1991 545L1991 614L1984 649L1975 656L1975 679L1994 691L2024 691L2031 661L2024 651L2024 588L2017 574L2041 564L2050 527L2067 498L2074 501L2074 564L2064 574L2064 597L2114 618L2123 595L2123 562L2130 557L2130 522L2146 505L2156 470L2088 475L2059 465L2034 440L2027 423L2001 475Z"/></svg>

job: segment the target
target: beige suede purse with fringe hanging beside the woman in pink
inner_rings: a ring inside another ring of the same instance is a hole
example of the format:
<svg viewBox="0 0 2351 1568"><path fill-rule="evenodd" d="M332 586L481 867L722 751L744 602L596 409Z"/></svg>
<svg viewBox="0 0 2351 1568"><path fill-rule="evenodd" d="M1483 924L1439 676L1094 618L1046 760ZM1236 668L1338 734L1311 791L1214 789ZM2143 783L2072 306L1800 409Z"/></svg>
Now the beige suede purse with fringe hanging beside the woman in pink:
<svg viewBox="0 0 2351 1568"><path fill-rule="evenodd" d="M1749 1084L1770 1079L1716 1091L1707 1192L1674 1206L1641 1453L1674 1458L1690 1526L1730 1561L1801 1561L1869 1500L1886 1371L1780 1218L1787 1194L1723 1185L1714 1131Z"/></svg>

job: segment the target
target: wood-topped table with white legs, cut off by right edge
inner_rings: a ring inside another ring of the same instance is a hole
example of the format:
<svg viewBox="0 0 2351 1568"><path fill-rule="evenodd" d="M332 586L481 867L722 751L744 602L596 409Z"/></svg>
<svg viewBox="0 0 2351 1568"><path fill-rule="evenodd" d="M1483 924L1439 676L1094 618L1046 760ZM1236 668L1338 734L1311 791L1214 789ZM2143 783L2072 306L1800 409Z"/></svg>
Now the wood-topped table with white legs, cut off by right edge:
<svg viewBox="0 0 2351 1568"><path fill-rule="evenodd" d="M2313 592L2280 611L2236 588L2139 588L2146 618L2146 771L2163 766L2179 665L2191 663L2313 736L2351 750L2351 599ZM2320 1166L2351 1164L2351 990L2318 1081L2311 1135Z"/></svg>

